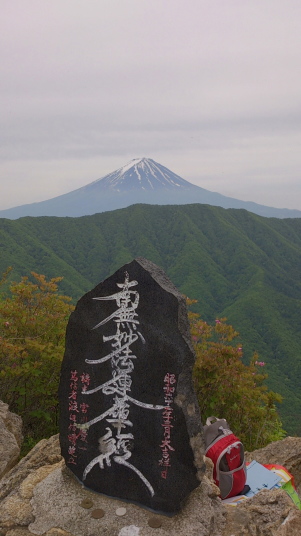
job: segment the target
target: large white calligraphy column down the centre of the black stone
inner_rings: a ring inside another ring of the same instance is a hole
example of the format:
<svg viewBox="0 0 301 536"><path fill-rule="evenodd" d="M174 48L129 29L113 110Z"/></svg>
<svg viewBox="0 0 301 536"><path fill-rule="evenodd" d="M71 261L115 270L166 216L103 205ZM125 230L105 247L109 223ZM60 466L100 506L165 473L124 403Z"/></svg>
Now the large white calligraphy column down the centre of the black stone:
<svg viewBox="0 0 301 536"><path fill-rule="evenodd" d="M131 432L133 426L130 420L130 406L136 404L147 410L161 410L164 406L146 404L130 396L131 392L131 373L134 370L134 360L137 356L132 353L132 344L140 338L145 343L143 335L138 331L139 318L137 307L139 304L139 293L133 290L138 282L129 280L129 274L125 273L124 283L117 283L120 291L111 296L93 298L94 300L115 300L117 309L110 316L99 322L93 329L98 329L107 322L113 321L116 324L115 333L109 336L103 336L103 341L111 343L110 352L100 359L89 360L87 363L102 364L111 360L112 378L105 383L94 387L93 389L82 392L84 395L91 395L101 391L107 396L111 396L112 406L104 413L88 421L81 428L89 428L93 424L102 421L108 423L106 433L99 438L100 455L94 458L85 468L83 480L91 469L98 464L101 469L111 467L112 460L115 463L124 465L134 471L148 488L151 496L154 496L154 489L145 476L132 465L128 460L132 455L134 445L134 435Z"/></svg>

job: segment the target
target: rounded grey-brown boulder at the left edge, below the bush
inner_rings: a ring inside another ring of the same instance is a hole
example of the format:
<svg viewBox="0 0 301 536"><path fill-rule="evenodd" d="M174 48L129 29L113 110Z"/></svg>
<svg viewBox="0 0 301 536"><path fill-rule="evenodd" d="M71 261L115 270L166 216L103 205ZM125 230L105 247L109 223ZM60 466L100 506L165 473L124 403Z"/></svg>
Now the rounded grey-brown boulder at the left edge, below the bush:
<svg viewBox="0 0 301 536"><path fill-rule="evenodd" d="M0 400L0 478L17 462L23 441L22 419Z"/></svg>

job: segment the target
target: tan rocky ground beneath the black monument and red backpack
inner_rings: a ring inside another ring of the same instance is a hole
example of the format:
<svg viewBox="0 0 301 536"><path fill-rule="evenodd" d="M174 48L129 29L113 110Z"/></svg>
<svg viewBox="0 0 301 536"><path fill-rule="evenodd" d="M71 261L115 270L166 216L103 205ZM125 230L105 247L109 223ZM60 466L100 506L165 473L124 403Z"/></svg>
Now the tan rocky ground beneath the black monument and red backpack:
<svg viewBox="0 0 301 536"><path fill-rule="evenodd" d="M166 517L85 489L65 467L58 436L43 439L16 464L20 420L3 403L0 425L0 536L301 534L301 511L283 490L263 490L236 507L226 506L213 483L210 460L206 459L206 475L183 510ZM248 453L247 459L284 465L301 492L301 438L277 441Z"/></svg>

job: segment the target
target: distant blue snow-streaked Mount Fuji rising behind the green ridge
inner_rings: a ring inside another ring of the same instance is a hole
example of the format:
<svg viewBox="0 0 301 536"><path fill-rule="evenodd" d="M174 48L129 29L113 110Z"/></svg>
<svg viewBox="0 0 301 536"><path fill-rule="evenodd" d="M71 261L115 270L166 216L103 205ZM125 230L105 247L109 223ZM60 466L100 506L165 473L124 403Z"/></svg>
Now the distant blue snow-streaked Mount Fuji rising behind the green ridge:
<svg viewBox="0 0 301 536"><path fill-rule="evenodd" d="M86 216L137 203L186 205L202 203L245 209L260 216L301 218L300 210L279 209L240 201L195 186L150 158L135 158L125 166L82 188L28 205L0 211L1 218L23 216Z"/></svg>

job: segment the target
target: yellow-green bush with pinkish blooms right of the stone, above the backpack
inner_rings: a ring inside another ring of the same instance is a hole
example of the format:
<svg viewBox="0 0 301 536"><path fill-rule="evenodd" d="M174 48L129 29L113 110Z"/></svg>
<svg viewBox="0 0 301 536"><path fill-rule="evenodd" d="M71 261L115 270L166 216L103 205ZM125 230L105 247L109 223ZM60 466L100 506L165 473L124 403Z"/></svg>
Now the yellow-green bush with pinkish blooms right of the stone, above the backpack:
<svg viewBox="0 0 301 536"><path fill-rule="evenodd" d="M188 305L195 303L188 300ZM233 341L239 335L217 319L210 326L189 312L191 336L196 353L194 383L202 419L215 415L225 418L245 448L253 450L285 436L276 403L281 396L264 384L265 363L254 354L249 365L242 361L243 350Z"/></svg>

